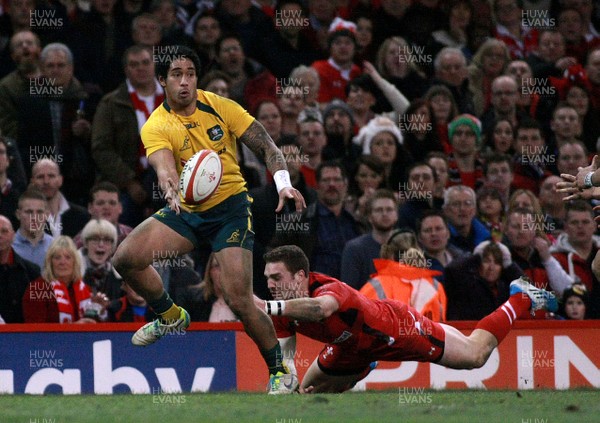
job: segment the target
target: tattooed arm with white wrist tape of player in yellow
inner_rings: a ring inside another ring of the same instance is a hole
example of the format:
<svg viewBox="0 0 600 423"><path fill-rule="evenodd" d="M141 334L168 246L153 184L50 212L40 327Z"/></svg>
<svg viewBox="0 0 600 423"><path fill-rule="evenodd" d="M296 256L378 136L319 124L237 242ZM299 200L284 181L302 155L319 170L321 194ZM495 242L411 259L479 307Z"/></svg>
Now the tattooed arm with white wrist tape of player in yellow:
<svg viewBox="0 0 600 423"><path fill-rule="evenodd" d="M254 120L248 129L244 131L240 141L265 161L267 168L273 175L279 193L279 204L277 204L275 211L281 211L285 200L290 199L294 200L296 211L298 213L302 212L302 209L306 208L304 197L300 191L292 187L285 157L283 157L283 153L277 148L264 126L258 120Z"/></svg>

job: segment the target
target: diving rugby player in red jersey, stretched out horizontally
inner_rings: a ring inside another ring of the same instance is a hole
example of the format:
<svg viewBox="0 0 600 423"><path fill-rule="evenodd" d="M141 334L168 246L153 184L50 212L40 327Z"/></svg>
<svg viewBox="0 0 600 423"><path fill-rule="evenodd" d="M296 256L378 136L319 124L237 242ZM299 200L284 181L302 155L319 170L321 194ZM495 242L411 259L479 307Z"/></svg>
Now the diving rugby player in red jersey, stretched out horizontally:
<svg viewBox="0 0 600 423"><path fill-rule="evenodd" d="M369 374L377 360L478 368L516 319L535 310L557 308L552 293L520 278L511 283L508 301L465 336L402 302L370 300L337 279L309 272L308 259L297 246L275 248L264 259L267 284L275 300L255 297L255 303L272 316L284 361L292 373L296 333L325 343L300 384L301 393L348 390Z"/></svg>

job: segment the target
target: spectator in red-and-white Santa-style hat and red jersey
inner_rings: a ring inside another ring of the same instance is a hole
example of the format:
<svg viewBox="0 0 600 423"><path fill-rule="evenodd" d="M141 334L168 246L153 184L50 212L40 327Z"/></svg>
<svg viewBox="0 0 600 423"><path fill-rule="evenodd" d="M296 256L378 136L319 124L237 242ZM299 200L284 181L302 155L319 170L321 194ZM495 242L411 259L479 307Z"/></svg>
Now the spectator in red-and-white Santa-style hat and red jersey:
<svg viewBox="0 0 600 423"><path fill-rule="evenodd" d="M361 74L360 68L354 64L356 51L356 25L336 18L329 28L327 38L329 58L313 62L319 73L319 103L328 103L334 98L346 99L348 81Z"/></svg>

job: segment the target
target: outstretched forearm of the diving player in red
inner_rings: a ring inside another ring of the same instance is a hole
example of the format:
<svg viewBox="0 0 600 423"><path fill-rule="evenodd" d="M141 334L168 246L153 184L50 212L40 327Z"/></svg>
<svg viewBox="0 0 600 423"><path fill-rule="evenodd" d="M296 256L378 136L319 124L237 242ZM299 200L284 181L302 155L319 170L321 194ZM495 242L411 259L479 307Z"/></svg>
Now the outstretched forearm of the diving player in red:
<svg viewBox="0 0 600 423"><path fill-rule="evenodd" d="M267 314L308 322L319 322L326 319L339 308L337 300L331 295L287 301L265 301Z"/></svg>

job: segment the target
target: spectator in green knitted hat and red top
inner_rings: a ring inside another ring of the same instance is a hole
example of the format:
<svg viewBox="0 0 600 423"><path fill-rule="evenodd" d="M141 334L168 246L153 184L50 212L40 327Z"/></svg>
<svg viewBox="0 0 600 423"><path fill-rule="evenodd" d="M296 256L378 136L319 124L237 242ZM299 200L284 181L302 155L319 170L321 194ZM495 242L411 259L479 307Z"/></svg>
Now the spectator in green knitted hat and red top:
<svg viewBox="0 0 600 423"><path fill-rule="evenodd" d="M448 125L452 153L448 160L449 185L466 185L475 189L483 177L479 160L481 122L473 115L459 115Z"/></svg>

